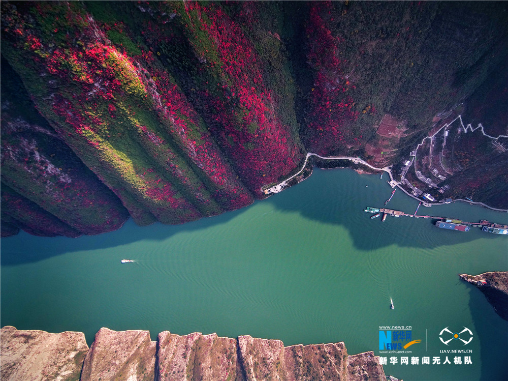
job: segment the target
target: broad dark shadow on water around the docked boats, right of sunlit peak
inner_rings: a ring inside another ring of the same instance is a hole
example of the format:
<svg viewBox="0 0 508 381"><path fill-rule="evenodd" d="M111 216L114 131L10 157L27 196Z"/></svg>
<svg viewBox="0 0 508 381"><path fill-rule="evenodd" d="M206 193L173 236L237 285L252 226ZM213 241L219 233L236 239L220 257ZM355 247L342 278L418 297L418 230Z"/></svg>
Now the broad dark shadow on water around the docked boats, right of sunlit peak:
<svg viewBox="0 0 508 381"><path fill-rule="evenodd" d="M393 244L401 247L433 249L471 242L478 238L505 239L484 233L479 228L471 228L469 232L438 229L431 226L436 221L433 219L388 216L385 222L381 221L382 217L371 220L372 215L363 212L363 209L367 206L383 208L385 200L392 192L386 180L380 180L378 174L359 175L352 169L325 171L314 168L310 178L284 192L269 197L265 202L272 203L281 211L299 212L307 219L342 225L350 231L354 245L359 250L372 250ZM418 200L398 189L386 208L414 213L417 206ZM508 223L507 213L495 212L464 202L431 208L421 206L418 215L453 217L467 222L487 219L497 223ZM379 246L373 248L373 237L377 235L382 235L383 238L376 243Z"/></svg>

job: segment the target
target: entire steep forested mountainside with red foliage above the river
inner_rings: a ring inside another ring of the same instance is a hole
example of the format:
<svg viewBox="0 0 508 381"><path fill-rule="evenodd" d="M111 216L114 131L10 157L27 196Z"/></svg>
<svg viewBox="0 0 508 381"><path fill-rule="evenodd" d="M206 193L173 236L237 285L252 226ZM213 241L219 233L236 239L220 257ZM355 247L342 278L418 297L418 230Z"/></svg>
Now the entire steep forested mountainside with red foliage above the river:
<svg viewBox="0 0 508 381"><path fill-rule="evenodd" d="M307 151L394 164L461 102L506 135L492 80L506 7L3 2L2 234L241 208ZM491 145L461 146L459 166L503 160ZM501 202L485 176L470 180L457 196Z"/></svg>

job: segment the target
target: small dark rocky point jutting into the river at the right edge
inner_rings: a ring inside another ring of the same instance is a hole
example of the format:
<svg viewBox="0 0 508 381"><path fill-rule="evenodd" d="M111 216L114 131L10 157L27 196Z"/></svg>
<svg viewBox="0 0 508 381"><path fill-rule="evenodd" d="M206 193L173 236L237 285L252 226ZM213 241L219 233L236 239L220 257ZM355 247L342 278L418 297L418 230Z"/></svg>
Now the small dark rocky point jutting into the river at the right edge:
<svg viewBox="0 0 508 381"><path fill-rule="evenodd" d="M508 320L508 272L496 271L480 275L460 274L460 279L474 284L482 291L504 320Z"/></svg>

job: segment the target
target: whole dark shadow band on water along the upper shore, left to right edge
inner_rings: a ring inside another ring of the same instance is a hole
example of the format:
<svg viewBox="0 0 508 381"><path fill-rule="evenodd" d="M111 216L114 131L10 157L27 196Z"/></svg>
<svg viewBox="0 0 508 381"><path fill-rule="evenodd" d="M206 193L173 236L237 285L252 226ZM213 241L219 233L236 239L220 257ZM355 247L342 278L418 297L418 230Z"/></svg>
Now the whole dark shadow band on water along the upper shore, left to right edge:
<svg viewBox="0 0 508 381"><path fill-rule="evenodd" d="M387 174L385 174L386 176ZM478 238L505 239L505 237L482 233L477 228L472 228L469 232L437 231L436 227L430 226L433 223L431 219L388 217L386 222L381 222L379 217L371 220L369 218L371 215L364 213L363 209L366 206L383 207L391 192L392 189L387 184L386 178L380 180L377 174L359 175L352 169L325 171L314 168L314 173L310 178L282 193L272 195L262 201L256 201L253 205L237 211L182 225L155 223L140 227L129 220L119 230L98 236L79 238L34 237L20 232L17 236L2 240L0 263L2 266L12 266L43 260L63 253L115 248L142 240L162 241L179 232L198 232L212 226L228 224L232 219L248 211L249 208L256 208L259 203L270 203L278 211L296 212L309 220L341 225L348 229L353 244L359 250L375 250L393 244L400 247L432 249L443 245L471 242ZM417 200L399 190L387 208L412 213L417 206ZM498 223L507 223L506 219L508 218L506 213L493 212L465 203L453 203L432 208L421 207L419 215L423 214L460 218L470 222L486 218ZM263 232L258 231L257 233ZM373 245L377 246L373 247ZM34 250L34 247L40 249ZM129 255L125 254L125 256Z"/></svg>

